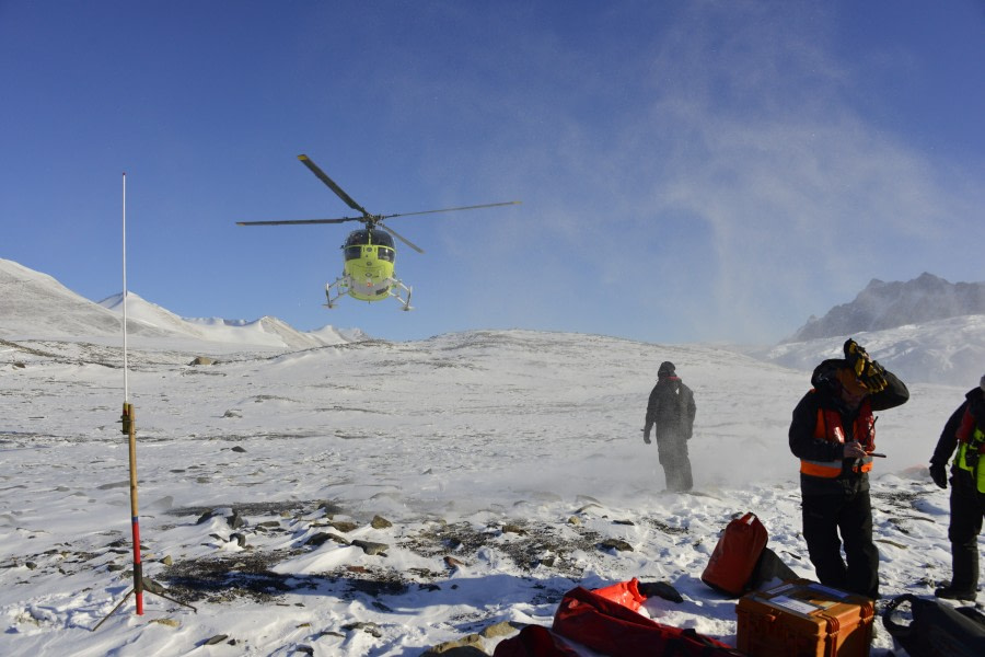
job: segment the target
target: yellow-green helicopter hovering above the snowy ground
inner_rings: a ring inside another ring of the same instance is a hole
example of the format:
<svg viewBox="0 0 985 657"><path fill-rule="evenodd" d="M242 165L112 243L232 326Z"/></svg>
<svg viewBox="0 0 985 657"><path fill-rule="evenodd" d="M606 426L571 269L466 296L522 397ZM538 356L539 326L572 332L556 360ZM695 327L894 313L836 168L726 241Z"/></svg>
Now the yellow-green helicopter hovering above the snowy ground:
<svg viewBox="0 0 985 657"><path fill-rule="evenodd" d="M394 276L394 262L396 249L393 238L417 251L424 250L414 244L395 230L383 223L384 219L394 217L409 217L413 215L430 215L433 212L453 212L459 210L475 210L478 208L494 208L499 206L519 205L519 200L505 203L488 203L484 205L463 206L457 208L444 208L440 210L422 210L419 212L401 212L396 215L373 215L361 205L352 200L352 197L338 186L311 158L305 154L298 155L315 176L325 183L336 196L343 199L347 206L360 212L360 217L339 217L337 219L298 219L288 221L237 221L236 226L302 226L310 223L343 223L345 221L361 221L363 228L354 230L341 245L344 265L343 274L334 283L325 285L325 307L335 308L335 304L345 296L360 301L380 301L394 298L402 310L414 310L410 306L412 288L404 285ZM392 235L392 237L391 237Z"/></svg>

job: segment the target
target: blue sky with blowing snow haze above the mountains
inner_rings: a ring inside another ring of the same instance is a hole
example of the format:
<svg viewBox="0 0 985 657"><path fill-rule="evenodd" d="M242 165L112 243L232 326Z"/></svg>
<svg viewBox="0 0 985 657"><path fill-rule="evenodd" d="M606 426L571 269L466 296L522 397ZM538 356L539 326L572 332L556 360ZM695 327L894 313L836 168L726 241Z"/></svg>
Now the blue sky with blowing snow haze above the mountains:
<svg viewBox="0 0 985 657"><path fill-rule="evenodd" d="M769 344L985 279L985 3L0 0L0 257L100 300L386 339ZM414 312L326 310L354 224Z"/></svg>

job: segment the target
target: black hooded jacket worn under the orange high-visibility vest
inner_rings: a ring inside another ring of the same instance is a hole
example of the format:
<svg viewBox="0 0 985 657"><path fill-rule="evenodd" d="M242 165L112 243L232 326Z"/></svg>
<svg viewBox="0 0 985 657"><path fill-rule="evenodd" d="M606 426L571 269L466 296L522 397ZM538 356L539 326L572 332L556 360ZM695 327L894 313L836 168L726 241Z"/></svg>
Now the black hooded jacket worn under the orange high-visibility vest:
<svg viewBox="0 0 985 657"><path fill-rule="evenodd" d="M858 407L849 408L842 400L841 383L836 378L838 370L848 367L844 359L833 358L814 368L811 376L814 388L793 408L789 430L790 451L793 456L802 461L842 462L842 471L834 477L801 473L800 483L804 494L836 493L846 488L867 491L869 487L868 475L858 468L858 460L843 459L843 443L823 437L824 430L818 426L821 418L839 418L844 440L849 442L856 439L854 433L860 413L893 408L909 399L906 384L887 371L887 387L874 394L867 394Z"/></svg>

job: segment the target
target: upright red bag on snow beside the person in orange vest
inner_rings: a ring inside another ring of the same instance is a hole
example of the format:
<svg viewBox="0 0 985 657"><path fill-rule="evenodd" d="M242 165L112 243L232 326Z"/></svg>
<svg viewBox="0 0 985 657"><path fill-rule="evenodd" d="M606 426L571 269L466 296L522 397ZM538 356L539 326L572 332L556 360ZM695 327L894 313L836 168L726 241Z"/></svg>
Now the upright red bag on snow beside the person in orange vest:
<svg viewBox="0 0 985 657"><path fill-rule="evenodd" d="M732 520L718 539L702 573L702 581L730 596L741 596L752 579L767 540L766 528L755 514Z"/></svg>

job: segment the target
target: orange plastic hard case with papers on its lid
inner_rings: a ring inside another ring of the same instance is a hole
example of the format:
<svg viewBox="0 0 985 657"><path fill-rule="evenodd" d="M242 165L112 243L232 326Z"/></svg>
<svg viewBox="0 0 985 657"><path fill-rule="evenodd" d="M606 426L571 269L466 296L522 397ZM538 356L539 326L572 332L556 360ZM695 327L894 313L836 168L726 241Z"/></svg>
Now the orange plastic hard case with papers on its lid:
<svg viewBox="0 0 985 657"><path fill-rule="evenodd" d="M809 579L739 599L738 648L750 657L865 657L874 604Z"/></svg>

